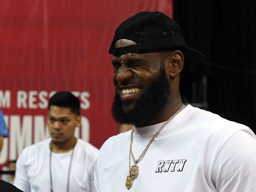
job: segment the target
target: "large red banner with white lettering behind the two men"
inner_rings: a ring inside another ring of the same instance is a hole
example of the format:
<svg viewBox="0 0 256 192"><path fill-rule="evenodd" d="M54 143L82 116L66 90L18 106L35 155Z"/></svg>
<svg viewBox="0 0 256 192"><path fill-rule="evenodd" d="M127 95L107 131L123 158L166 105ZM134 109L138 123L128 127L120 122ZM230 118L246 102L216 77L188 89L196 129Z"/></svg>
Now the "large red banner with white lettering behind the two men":
<svg viewBox="0 0 256 192"><path fill-rule="evenodd" d="M76 136L100 148L118 125L111 118L112 56L116 27L140 11L173 16L172 0L2 0L0 108L10 136L0 165L49 137L48 99L68 90L81 101Z"/></svg>

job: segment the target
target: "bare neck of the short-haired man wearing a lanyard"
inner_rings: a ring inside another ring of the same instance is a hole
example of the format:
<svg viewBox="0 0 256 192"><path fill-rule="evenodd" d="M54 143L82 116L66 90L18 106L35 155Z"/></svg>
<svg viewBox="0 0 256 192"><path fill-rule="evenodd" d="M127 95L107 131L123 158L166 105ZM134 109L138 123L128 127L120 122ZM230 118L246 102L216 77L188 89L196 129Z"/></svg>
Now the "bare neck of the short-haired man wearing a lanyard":
<svg viewBox="0 0 256 192"><path fill-rule="evenodd" d="M77 139L72 137L70 140L62 144L56 144L53 141L50 143L50 149L54 153L65 153L72 150L76 144Z"/></svg>

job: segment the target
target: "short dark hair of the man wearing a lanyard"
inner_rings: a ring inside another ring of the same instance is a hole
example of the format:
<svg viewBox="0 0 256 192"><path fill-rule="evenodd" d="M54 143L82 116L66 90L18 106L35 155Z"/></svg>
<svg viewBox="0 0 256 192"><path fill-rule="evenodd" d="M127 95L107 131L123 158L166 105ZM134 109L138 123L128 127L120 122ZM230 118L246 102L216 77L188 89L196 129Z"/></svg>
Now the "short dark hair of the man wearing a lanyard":
<svg viewBox="0 0 256 192"><path fill-rule="evenodd" d="M59 91L55 93L50 99L48 104L48 111L54 105L57 107L70 108L71 112L80 115L80 101L72 93L68 91Z"/></svg>

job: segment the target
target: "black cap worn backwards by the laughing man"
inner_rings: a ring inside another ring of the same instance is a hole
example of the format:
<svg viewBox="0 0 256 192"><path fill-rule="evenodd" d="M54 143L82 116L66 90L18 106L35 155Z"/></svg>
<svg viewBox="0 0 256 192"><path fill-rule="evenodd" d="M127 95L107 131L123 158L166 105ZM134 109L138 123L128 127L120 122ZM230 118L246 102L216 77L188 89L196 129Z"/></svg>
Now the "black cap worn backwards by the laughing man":
<svg viewBox="0 0 256 192"><path fill-rule="evenodd" d="M129 39L137 45L115 48L119 39ZM202 53L187 46L180 26L161 12L140 12L128 18L115 31L109 54L116 57L127 53L180 50L187 59L205 58Z"/></svg>

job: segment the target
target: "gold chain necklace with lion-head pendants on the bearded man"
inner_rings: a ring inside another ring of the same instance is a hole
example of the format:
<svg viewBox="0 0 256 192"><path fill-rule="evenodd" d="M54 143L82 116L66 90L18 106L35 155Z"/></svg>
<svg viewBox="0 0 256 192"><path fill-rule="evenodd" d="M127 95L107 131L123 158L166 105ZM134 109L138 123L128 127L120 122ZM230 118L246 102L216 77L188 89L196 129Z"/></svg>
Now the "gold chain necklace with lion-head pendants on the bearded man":
<svg viewBox="0 0 256 192"><path fill-rule="evenodd" d="M132 129L131 132L131 143L130 143L130 150L129 150L129 175L126 178L126 183L125 186L127 187L127 189L129 190L132 187L133 184L133 180L138 176L139 174L139 167L137 166L137 163L141 160L141 158L145 155L145 153L147 152L150 144L155 140L155 138L159 135L160 131L162 131L162 129L178 114L180 113L184 108L186 107L186 105L182 104L180 109L178 111L176 111L176 113L174 115L172 115L162 126L161 128L156 132L156 134L153 136L153 138L150 140L150 142L148 143L148 145L146 146L146 148L144 149L144 151L141 153L140 157L138 159L134 158L133 152L132 152L132 141L133 141L133 133L134 133L134 128ZM132 156L132 160L134 162L134 165L131 167L131 156Z"/></svg>

